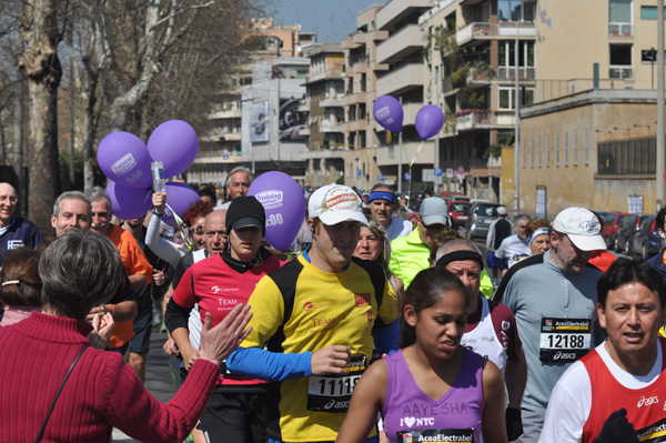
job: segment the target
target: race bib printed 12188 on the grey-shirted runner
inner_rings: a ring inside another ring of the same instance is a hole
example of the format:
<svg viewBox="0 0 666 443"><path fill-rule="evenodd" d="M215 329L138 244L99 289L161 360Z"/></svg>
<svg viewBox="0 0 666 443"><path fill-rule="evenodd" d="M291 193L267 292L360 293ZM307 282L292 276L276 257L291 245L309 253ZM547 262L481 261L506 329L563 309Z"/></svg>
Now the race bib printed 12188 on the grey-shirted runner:
<svg viewBox="0 0 666 443"><path fill-rule="evenodd" d="M575 362L592 345L592 320L542 319L538 359L544 363Z"/></svg>

